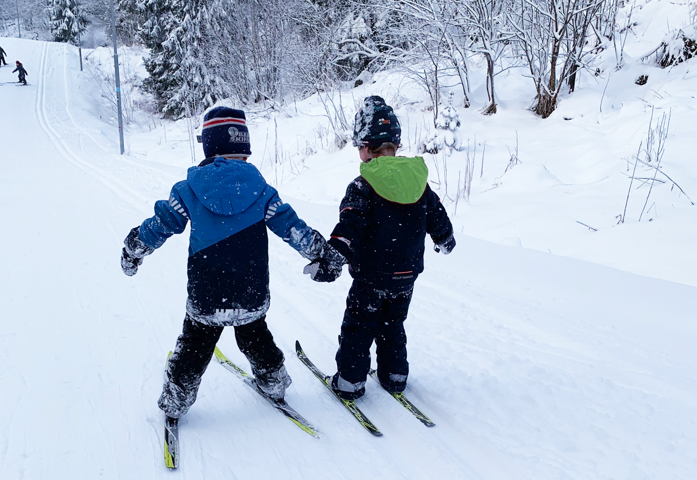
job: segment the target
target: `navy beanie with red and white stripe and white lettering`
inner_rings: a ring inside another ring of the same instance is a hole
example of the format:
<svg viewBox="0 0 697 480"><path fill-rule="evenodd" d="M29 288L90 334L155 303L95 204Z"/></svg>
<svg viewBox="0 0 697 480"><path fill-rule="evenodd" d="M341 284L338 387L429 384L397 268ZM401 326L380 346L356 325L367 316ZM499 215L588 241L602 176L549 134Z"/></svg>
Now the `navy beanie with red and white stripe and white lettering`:
<svg viewBox="0 0 697 480"><path fill-rule="evenodd" d="M245 112L229 107L215 107L204 115L201 132L206 157L215 155L252 155L250 131Z"/></svg>

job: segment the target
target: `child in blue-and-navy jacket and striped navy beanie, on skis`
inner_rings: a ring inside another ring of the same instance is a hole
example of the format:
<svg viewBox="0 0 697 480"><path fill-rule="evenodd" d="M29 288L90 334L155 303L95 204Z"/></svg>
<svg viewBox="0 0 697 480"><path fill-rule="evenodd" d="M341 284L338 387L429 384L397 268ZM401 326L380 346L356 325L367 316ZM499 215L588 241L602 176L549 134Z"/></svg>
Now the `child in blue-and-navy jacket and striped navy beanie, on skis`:
<svg viewBox="0 0 697 480"><path fill-rule="evenodd" d="M266 229L309 260L319 258L325 244L323 236L298 218L247 163L252 152L242 110L208 111L201 138L206 160L172 187L168 201L155 203L155 215L130 231L121 253L123 272L133 275L144 256L191 222L186 316L158 401L174 418L185 415L196 400L215 343L229 325L250 362L256 386L270 398L283 398L291 378L266 325Z"/></svg>

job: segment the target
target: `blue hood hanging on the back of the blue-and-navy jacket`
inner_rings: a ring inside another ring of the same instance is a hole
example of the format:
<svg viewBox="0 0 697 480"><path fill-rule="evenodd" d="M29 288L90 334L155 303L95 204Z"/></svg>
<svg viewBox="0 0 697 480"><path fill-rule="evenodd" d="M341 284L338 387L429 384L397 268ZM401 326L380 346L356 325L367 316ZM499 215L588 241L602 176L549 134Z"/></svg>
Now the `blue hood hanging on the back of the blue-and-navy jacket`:
<svg viewBox="0 0 697 480"><path fill-rule="evenodd" d="M187 182L197 199L218 215L244 212L266 187L266 180L254 165L223 157L216 157L205 167L191 167Z"/></svg>

